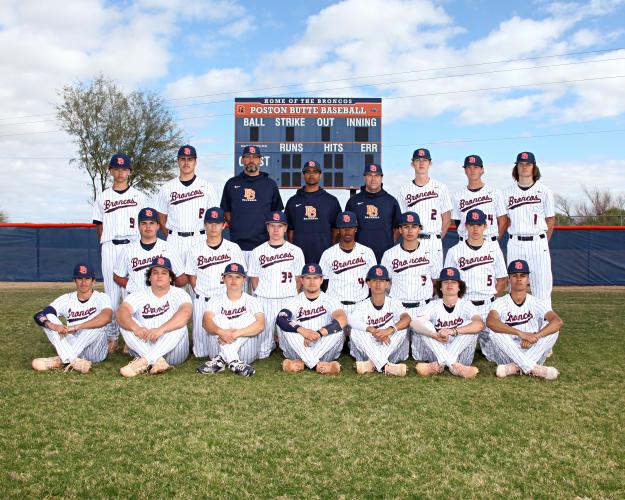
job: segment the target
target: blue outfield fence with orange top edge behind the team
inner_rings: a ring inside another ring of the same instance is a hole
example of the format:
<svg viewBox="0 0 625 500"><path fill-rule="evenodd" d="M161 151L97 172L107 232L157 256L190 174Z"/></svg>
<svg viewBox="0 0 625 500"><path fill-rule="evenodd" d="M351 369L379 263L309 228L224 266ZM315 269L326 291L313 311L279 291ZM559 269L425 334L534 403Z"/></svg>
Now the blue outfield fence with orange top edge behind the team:
<svg viewBox="0 0 625 500"><path fill-rule="evenodd" d="M457 241L450 230L445 251ZM625 285L625 227L557 227L550 247L554 284ZM68 281L81 261L102 280L93 224L0 224L0 256L0 281Z"/></svg>

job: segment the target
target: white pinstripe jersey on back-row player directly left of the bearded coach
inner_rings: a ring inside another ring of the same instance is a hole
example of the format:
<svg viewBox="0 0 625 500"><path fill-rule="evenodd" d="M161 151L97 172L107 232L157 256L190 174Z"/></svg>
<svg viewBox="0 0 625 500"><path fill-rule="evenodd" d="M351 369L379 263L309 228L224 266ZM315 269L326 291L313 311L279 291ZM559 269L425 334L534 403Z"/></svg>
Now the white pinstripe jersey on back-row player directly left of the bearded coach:
<svg viewBox="0 0 625 500"><path fill-rule="evenodd" d="M156 197L156 210L167 215L167 229L195 232L204 229L204 212L219 204L212 184L195 177L186 185L178 177L161 186Z"/></svg>

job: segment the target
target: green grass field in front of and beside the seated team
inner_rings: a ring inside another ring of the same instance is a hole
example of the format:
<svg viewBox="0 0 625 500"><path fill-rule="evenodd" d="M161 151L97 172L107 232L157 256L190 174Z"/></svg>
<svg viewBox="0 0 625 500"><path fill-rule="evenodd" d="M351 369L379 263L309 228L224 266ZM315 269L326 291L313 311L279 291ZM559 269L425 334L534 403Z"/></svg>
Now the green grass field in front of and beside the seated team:
<svg viewBox="0 0 625 500"><path fill-rule="evenodd" d="M61 290L0 290L0 492L16 497L625 497L624 293L556 292L561 377L36 373Z"/></svg>

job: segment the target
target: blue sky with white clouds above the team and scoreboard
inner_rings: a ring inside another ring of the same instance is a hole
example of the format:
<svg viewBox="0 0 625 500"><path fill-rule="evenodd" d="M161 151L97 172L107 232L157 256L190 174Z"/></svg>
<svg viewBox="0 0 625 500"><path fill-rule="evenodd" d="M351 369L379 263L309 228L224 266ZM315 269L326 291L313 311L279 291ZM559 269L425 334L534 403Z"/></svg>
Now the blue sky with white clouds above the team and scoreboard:
<svg viewBox="0 0 625 500"><path fill-rule="evenodd" d="M623 194L624 26L617 0L5 0L0 209L15 222L91 219L87 176L69 165L71 140L50 113L57 89L98 73L170 99L218 190L233 169L234 97L315 95L384 99L393 194L420 146L452 191L466 155L504 188L530 150L558 194Z"/></svg>

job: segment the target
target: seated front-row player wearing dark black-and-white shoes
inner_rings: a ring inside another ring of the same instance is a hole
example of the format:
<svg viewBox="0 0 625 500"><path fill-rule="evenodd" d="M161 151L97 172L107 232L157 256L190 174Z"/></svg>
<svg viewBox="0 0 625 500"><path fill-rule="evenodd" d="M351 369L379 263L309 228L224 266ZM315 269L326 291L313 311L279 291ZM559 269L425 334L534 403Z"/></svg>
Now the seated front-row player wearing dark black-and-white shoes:
<svg viewBox="0 0 625 500"><path fill-rule="evenodd" d="M236 262L224 270L226 293L213 297L206 306L204 328L215 344L217 355L202 363L198 373L219 373L226 366L237 375L251 377L250 363L258 357L257 336L265 328L260 302L243 291L245 268Z"/></svg>

